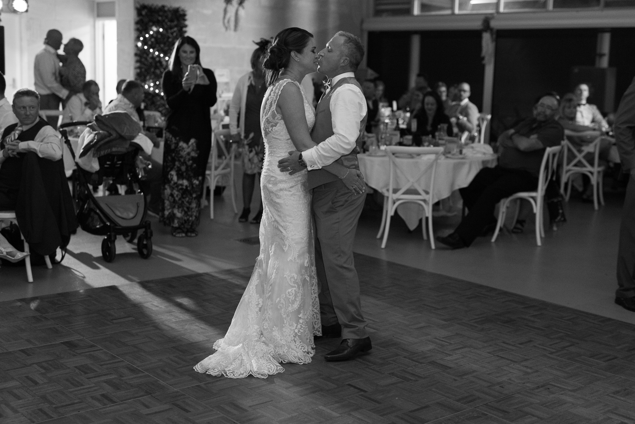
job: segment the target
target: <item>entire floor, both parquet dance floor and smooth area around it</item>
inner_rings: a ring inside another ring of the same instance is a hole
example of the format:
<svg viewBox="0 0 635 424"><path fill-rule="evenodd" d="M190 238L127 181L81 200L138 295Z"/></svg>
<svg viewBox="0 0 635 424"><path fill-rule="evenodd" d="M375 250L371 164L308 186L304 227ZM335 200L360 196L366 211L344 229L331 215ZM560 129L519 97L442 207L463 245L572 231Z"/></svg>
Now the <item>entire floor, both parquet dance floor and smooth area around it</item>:
<svg viewBox="0 0 635 424"><path fill-rule="evenodd" d="M318 341L314 362L266 380L192 370L258 255L258 226L216 200L197 238L152 219L147 260L119 239L105 263L79 231L33 284L0 269L0 423L635 424L635 313L613 304L620 195L597 212L572 200L542 247L529 224L455 251L400 219L381 249L369 198L355 251L373 350L328 363L338 341Z"/></svg>

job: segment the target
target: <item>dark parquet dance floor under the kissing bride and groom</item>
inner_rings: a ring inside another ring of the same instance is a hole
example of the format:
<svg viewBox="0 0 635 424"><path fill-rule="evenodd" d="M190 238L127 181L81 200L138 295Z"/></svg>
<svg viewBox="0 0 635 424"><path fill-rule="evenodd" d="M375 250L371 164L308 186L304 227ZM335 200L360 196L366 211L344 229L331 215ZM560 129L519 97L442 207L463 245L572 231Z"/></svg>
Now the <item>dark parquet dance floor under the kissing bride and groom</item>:
<svg viewBox="0 0 635 424"><path fill-rule="evenodd" d="M357 255L370 354L192 367L251 268L0 303L0 423L635 423L635 326ZM484 264L483 266L487 266Z"/></svg>

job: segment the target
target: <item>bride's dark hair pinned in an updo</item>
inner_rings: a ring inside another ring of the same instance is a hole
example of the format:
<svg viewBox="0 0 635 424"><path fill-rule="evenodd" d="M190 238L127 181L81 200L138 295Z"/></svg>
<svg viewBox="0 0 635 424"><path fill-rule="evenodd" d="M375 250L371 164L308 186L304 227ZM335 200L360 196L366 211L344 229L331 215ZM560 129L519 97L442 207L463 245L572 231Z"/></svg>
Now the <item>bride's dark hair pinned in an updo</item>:
<svg viewBox="0 0 635 424"><path fill-rule="evenodd" d="M291 51L297 51L302 54L311 38L313 38L311 32L297 27L286 28L277 33L274 43L269 47L265 61L262 64L267 73L268 86L273 85L280 72L288 67L291 60Z"/></svg>

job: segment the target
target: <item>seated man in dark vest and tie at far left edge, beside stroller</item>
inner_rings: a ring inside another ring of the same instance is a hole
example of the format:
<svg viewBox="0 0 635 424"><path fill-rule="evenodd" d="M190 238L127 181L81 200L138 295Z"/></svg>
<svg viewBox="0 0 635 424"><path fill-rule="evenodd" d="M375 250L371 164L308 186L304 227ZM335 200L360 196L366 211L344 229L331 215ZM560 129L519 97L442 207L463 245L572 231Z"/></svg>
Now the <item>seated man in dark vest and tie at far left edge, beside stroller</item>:
<svg viewBox="0 0 635 424"><path fill-rule="evenodd" d="M39 94L29 88L13 96L18 123L4 129L0 142L0 210L14 210L26 153L57 161L62 159L60 134L39 116Z"/></svg>

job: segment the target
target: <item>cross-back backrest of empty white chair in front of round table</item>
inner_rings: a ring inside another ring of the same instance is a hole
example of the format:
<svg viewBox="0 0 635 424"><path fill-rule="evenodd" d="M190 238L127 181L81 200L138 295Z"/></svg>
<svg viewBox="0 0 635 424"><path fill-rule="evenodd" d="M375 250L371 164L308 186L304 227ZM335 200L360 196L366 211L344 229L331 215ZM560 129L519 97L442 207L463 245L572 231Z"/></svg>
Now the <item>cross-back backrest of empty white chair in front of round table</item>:
<svg viewBox="0 0 635 424"><path fill-rule="evenodd" d="M406 146L386 146L386 153L390 163L390 180L389 180L389 195L393 198L398 198L403 195L408 189L416 189L418 194L432 202L432 193L434 191L434 176L436 175L436 164L441 154L443 154L443 147L406 147ZM403 166L399 163L395 154L411 154L413 156L420 156L422 167L418 174L408 175L408 172L404 170ZM424 177L428 172L432 172L430 184L428 189L422 188L419 184L420 179ZM396 184L396 178L398 174L403 175L404 179L408 182L403 184L401 188L394 193L394 186Z"/></svg>

